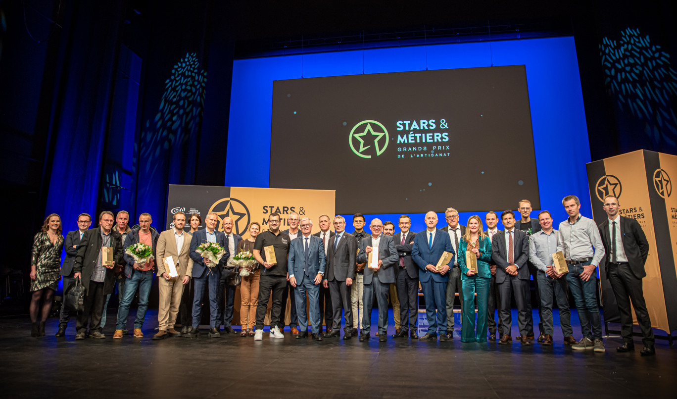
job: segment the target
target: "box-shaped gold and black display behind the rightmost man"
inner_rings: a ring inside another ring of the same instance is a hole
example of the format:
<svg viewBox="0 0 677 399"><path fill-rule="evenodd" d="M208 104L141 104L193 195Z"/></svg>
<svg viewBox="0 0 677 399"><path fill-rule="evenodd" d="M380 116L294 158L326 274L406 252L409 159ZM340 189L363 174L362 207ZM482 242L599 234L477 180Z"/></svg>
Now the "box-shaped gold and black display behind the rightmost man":
<svg viewBox="0 0 677 399"><path fill-rule="evenodd" d="M639 222L649 240L649 257L642 280L652 327L672 337L677 329L677 194L671 177L677 176L677 156L639 150L588 163L592 215L604 222L604 197L618 198L620 215ZM619 322L611 284L600 268L605 322ZM636 322L636 316L634 315ZM672 341L672 339L671 339Z"/></svg>

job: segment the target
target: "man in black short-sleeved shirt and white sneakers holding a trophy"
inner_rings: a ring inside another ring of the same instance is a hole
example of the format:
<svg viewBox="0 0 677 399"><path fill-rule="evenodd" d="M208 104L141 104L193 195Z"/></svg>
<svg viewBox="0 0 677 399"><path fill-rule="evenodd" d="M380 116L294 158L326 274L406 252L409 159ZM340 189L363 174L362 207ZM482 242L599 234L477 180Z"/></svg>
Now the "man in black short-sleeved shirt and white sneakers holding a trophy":
<svg viewBox="0 0 677 399"><path fill-rule="evenodd" d="M268 217L269 230L260 233L254 243L254 259L263 270L259 281L259 305L256 310L256 333L254 339L263 339L263 319L268 308L268 299L272 296L273 307L270 312L270 335L273 338L284 338L280 327L284 328L284 320L280 320L282 312L282 293L287 287L287 255L289 254L289 236L280 232L280 214L271 213ZM272 246L276 263L269 263L265 256L265 247Z"/></svg>

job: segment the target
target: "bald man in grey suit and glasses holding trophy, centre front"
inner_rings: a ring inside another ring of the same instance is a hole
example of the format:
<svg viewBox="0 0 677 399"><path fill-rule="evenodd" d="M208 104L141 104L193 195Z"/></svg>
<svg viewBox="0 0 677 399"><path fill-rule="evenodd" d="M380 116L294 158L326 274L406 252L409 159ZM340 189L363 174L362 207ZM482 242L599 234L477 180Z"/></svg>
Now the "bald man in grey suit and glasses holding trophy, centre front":
<svg viewBox="0 0 677 399"><path fill-rule="evenodd" d="M359 242L357 263L367 263L364 268L364 316L362 316L362 333L360 341L369 339L371 329L372 306L374 295L378 303L378 341L384 342L388 338L388 291L389 285L395 282L395 267L399 262L399 255L393 243L393 237L381 234L383 223L373 219L370 224L372 235L362 238ZM376 264L369 263L369 254L378 254Z"/></svg>

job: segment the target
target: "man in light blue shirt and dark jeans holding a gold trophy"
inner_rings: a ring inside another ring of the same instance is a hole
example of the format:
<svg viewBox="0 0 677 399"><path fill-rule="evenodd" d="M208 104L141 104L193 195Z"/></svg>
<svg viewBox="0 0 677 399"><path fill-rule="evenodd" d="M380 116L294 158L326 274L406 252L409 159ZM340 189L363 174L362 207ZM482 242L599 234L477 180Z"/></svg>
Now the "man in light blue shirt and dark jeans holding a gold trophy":
<svg viewBox="0 0 677 399"><path fill-rule="evenodd" d="M552 254L557 252L559 236L557 230L552 228L552 216L550 212L542 211L538 214L540 230L531 234L529 240L529 259L531 264L538 268L538 289L540 290L540 307L542 314L544 338L543 345L552 345L552 293L557 300L559 308L559 324L562 327L565 345L573 345L571 329L571 312L569 312L569 299L567 298L567 279L564 274L559 274L553 267Z"/></svg>

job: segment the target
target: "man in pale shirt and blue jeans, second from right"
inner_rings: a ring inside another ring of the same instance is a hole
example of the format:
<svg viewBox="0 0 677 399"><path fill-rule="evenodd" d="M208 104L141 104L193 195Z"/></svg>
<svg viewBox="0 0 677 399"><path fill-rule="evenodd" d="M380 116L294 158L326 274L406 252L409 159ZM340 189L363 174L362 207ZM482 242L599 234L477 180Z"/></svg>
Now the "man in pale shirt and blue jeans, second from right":
<svg viewBox="0 0 677 399"><path fill-rule="evenodd" d="M573 350L604 352L602 317L597 302L597 266L604 256L604 245L594 221L580 214L581 202L575 195L562 200L569 219L559 224L557 251L563 251L569 273L567 281L576 302L583 338Z"/></svg>

